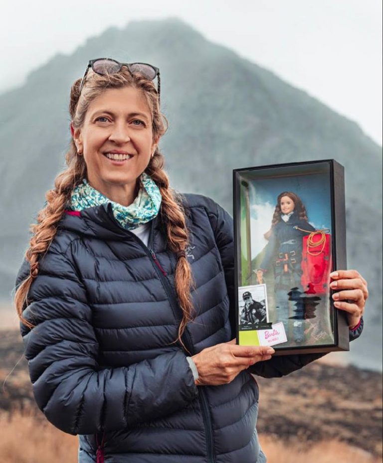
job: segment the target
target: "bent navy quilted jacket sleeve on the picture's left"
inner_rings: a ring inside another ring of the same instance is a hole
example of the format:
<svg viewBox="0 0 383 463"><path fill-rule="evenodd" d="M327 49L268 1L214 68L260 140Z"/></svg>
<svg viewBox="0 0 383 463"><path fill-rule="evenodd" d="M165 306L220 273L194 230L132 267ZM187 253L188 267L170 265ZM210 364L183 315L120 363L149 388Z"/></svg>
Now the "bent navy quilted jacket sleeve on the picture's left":
<svg viewBox="0 0 383 463"><path fill-rule="evenodd" d="M21 266L16 286L26 277ZM97 363L98 342L84 285L68 255L49 249L40 260L20 324L38 407L69 434L115 431L184 408L197 395L180 350L129 367Z"/></svg>

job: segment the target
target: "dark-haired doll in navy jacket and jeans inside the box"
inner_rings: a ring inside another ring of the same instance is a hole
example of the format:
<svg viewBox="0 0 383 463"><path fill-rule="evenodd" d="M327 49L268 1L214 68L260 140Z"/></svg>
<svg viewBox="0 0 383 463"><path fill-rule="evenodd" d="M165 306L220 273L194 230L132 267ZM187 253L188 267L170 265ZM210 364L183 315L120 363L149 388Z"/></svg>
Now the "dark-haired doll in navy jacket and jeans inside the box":
<svg viewBox="0 0 383 463"><path fill-rule="evenodd" d="M292 191L280 193L271 229L265 233L269 242L260 266L263 273L270 268L274 272L276 320L283 322L287 339L293 344L304 341L305 299L313 299L303 298L301 264L302 237L314 231L301 198Z"/></svg>

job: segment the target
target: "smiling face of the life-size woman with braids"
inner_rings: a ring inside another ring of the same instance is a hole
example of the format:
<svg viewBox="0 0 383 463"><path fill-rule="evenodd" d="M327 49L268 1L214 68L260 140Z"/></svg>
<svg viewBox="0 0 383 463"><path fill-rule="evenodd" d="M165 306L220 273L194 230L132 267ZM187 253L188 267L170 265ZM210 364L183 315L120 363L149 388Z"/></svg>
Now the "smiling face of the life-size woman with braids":
<svg viewBox="0 0 383 463"><path fill-rule="evenodd" d="M83 126L73 136L93 188L120 204L131 204L136 179L158 144L142 92L131 87L106 90L90 103Z"/></svg>

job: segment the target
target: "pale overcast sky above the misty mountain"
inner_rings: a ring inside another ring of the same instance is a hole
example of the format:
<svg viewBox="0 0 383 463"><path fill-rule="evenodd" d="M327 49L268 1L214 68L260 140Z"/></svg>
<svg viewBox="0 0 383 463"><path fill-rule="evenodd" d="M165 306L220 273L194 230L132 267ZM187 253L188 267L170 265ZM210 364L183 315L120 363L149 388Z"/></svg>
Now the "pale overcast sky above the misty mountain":
<svg viewBox="0 0 383 463"><path fill-rule="evenodd" d="M111 25L177 16L382 145L382 0L5 0L0 11L0 91Z"/></svg>

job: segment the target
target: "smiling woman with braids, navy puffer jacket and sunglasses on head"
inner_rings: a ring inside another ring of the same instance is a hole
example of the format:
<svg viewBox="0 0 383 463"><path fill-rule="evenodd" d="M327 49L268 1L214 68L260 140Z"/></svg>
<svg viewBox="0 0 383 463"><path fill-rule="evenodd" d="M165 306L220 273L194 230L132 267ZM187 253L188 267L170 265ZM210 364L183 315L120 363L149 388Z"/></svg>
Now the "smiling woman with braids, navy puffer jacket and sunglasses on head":
<svg viewBox="0 0 383 463"><path fill-rule="evenodd" d="M68 167L16 280L36 402L80 435L81 463L265 462L250 373L320 355L235 345L232 219L169 186L158 69L113 63L92 60L72 86ZM366 282L335 281L355 339Z"/></svg>

